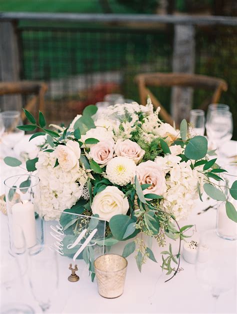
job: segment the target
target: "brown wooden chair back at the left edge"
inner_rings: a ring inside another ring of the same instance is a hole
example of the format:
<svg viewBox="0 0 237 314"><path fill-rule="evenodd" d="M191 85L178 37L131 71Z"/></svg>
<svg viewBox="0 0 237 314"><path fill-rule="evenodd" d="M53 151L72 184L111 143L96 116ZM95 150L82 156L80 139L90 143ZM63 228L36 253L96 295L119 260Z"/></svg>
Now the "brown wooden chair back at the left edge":
<svg viewBox="0 0 237 314"><path fill-rule="evenodd" d="M0 96L2 95L33 95L26 103L25 109L32 111L35 106L38 110L44 111L44 94L47 85L44 82L37 81L17 81L17 82L0 82ZM24 112L21 113L22 120L25 119Z"/></svg>

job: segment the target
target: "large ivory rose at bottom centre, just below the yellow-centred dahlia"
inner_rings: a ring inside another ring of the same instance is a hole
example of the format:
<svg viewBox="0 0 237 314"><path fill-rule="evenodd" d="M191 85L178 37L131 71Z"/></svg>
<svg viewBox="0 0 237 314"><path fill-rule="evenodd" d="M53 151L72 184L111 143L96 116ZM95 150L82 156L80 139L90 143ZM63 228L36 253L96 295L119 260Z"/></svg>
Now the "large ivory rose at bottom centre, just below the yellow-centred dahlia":
<svg viewBox="0 0 237 314"><path fill-rule="evenodd" d="M109 221L114 215L126 215L129 208L128 200L115 186L107 186L103 191L95 195L91 209L93 215Z"/></svg>

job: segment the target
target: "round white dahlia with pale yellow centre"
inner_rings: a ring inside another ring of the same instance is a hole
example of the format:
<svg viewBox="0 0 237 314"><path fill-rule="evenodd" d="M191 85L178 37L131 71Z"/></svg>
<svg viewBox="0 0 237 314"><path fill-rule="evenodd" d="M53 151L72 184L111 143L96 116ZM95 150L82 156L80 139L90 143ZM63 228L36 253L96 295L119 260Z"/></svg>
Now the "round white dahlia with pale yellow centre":
<svg viewBox="0 0 237 314"><path fill-rule="evenodd" d="M117 185L126 185L131 182L136 165L133 160L126 157L114 157L106 167L107 178Z"/></svg>

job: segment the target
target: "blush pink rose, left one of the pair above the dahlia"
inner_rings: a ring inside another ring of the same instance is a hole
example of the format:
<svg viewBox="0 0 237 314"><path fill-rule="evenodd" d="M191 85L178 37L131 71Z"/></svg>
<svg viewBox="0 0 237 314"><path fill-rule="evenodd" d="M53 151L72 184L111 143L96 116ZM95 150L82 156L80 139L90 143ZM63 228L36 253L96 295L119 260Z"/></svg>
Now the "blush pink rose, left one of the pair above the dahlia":
<svg viewBox="0 0 237 314"><path fill-rule="evenodd" d="M113 157L113 139L100 141L91 145L89 156L99 165L106 165Z"/></svg>

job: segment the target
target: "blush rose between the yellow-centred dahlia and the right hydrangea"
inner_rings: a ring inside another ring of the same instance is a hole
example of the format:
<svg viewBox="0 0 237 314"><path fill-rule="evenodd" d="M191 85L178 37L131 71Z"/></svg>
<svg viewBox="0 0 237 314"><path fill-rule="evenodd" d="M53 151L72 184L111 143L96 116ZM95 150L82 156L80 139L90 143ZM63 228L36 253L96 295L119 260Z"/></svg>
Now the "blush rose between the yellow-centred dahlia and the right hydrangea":
<svg viewBox="0 0 237 314"><path fill-rule="evenodd" d="M143 194L153 193L163 195L166 191L164 172L154 161L148 160L140 163L136 166L135 175L140 184L151 185L143 190Z"/></svg>

